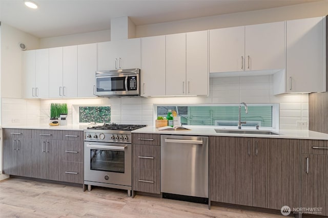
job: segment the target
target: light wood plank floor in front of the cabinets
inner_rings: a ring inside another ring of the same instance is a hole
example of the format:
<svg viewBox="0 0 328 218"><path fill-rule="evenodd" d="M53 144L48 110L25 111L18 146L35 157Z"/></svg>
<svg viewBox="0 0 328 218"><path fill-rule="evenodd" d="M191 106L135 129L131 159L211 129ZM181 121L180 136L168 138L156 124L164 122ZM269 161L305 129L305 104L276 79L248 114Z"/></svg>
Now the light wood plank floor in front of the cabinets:
<svg viewBox="0 0 328 218"><path fill-rule="evenodd" d="M0 217L284 217L136 195L124 190L7 179L0 182Z"/></svg>

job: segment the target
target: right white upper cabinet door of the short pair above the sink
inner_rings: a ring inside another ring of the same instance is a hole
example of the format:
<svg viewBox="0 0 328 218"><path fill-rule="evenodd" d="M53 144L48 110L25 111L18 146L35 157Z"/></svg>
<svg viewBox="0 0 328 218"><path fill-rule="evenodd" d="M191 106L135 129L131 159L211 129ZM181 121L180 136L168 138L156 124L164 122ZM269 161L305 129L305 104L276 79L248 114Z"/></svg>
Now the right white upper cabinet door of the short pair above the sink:
<svg viewBox="0 0 328 218"><path fill-rule="evenodd" d="M284 21L245 27L245 71L285 69Z"/></svg>

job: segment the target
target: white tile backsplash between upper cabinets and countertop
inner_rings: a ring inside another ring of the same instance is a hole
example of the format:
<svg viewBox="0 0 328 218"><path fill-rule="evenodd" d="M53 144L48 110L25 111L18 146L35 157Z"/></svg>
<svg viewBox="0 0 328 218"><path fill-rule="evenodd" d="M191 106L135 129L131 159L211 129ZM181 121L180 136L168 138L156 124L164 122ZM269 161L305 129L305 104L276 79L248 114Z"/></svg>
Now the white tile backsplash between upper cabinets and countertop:
<svg viewBox="0 0 328 218"><path fill-rule="evenodd" d="M73 105L110 105L111 122L153 125L154 104L279 103L280 129L300 129L296 121L309 123L309 95L273 95L273 77L210 78L208 97L11 99L2 98L2 125L47 124L50 103L67 103L68 124L78 123ZM308 129L308 126L302 127Z"/></svg>

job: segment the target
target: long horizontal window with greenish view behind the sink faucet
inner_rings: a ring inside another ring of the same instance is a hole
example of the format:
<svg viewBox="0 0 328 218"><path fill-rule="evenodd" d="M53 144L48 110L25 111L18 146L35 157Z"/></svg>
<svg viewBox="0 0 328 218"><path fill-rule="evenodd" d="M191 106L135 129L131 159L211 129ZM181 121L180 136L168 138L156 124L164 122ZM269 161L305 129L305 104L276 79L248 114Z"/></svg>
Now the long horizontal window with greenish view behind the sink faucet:
<svg viewBox="0 0 328 218"><path fill-rule="evenodd" d="M219 106L157 106L157 116L166 117L168 110L174 110L181 117L183 125L238 126L238 105ZM248 114L241 107L243 126L272 127L272 105L249 105Z"/></svg>

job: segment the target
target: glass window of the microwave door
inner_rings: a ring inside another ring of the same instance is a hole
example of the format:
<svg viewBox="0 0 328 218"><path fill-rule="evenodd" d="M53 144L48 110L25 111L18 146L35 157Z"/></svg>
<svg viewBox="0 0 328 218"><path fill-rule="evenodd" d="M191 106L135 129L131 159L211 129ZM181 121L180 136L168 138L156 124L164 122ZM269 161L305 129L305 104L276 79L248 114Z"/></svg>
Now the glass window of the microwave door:
<svg viewBox="0 0 328 218"><path fill-rule="evenodd" d="M97 92L126 91L125 77L97 78Z"/></svg>

